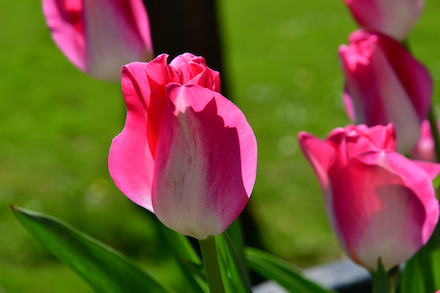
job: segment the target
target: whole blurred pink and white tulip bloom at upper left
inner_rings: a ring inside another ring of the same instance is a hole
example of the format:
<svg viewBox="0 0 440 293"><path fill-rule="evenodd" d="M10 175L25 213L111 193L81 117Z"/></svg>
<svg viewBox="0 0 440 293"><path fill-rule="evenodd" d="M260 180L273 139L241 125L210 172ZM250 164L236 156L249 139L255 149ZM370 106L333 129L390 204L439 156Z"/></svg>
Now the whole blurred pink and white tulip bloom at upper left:
<svg viewBox="0 0 440 293"><path fill-rule="evenodd" d="M93 77L119 82L122 65L152 59L142 0L43 0L43 14L61 52Z"/></svg>

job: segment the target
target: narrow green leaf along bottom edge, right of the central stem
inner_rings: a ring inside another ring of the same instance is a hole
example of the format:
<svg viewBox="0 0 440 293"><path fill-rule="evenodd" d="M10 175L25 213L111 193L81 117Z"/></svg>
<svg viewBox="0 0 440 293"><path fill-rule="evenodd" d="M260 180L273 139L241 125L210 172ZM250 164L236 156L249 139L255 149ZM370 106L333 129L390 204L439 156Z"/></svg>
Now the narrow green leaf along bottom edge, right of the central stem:
<svg viewBox="0 0 440 293"><path fill-rule="evenodd" d="M291 263L270 253L248 247L245 251L248 266L266 279L271 279L292 293L329 293L321 286L304 278Z"/></svg>

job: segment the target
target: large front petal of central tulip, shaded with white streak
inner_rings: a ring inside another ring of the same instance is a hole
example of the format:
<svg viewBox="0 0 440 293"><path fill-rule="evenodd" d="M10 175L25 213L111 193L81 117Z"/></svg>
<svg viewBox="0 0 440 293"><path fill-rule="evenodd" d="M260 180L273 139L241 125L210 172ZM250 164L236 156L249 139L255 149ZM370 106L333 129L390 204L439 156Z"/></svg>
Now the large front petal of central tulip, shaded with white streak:
<svg viewBox="0 0 440 293"><path fill-rule="evenodd" d="M198 239L222 233L251 194L257 148L242 112L197 85L167 86L153 181L156 216Z"/></svg>

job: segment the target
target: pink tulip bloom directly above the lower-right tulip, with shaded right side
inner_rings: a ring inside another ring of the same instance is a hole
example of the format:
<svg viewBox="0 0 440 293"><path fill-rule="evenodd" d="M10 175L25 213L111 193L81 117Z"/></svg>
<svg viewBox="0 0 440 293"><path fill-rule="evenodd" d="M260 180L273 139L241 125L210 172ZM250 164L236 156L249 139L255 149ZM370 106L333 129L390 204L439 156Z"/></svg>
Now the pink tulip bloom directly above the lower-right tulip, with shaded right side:
<svg viewBox="0 0 440 293"><path fill-rule="evenodd" d="M339 47L339 57L350 119L367 126L393 123L398 151L410 153L431 106L426 68L394 39L365 30L350 35L349 45Z"/></svg>

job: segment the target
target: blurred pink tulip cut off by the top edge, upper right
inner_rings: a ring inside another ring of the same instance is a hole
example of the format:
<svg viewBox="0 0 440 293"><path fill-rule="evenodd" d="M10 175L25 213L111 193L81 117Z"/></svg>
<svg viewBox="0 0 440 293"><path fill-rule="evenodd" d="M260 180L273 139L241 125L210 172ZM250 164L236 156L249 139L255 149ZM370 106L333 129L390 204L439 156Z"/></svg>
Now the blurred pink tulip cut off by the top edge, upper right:
<svg viewBox="0 0 440 293"><path fill-rule="evenodd" d="M422 13L423 0L343 0L360 27L405 40Z"/></svg>

